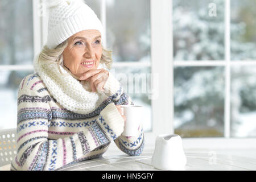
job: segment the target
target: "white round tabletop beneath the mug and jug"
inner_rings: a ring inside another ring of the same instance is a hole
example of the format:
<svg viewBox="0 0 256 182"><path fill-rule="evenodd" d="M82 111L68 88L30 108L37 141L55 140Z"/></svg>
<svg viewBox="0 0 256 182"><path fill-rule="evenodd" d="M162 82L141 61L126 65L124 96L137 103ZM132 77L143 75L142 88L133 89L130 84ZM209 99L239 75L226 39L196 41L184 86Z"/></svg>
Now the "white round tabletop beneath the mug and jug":
<svg viewBox="0 0 256 182"><path fill-rule="evenodd" d="M185 152L185 155L185 171L256 171L256 157L218 154L213 151ZM140 156L106 155L66 166L59 171L159 171L151 165L151 158L152 152ZM0 171L9 170L10 164L0 167Z"/></svg>

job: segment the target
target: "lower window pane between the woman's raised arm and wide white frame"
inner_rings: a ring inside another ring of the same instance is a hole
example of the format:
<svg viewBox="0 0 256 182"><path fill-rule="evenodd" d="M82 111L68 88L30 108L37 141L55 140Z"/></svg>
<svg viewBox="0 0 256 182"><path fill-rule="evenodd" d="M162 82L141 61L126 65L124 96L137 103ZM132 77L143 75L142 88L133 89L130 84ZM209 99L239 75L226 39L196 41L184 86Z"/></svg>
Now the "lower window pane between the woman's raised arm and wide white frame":
<svg viewBox="0 0 256 182"><path fill-rule="evenodd" d="M110 72L121 82L123 89L129 94L133 104L143 106L143 129L144 131L151 131L151 69L113 68Z"/></svg>

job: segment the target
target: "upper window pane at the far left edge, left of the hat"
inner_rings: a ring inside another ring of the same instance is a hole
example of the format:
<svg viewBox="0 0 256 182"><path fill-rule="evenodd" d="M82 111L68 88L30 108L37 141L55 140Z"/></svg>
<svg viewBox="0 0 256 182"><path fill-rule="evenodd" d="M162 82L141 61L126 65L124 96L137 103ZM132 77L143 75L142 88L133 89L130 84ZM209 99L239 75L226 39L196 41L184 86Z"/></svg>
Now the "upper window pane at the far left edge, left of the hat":
<svg viewBox="0 0 256 182"><path fill-rule="evenodd" d="M1 0L0 17L0 65L32 64L32 1Z"/></svg>

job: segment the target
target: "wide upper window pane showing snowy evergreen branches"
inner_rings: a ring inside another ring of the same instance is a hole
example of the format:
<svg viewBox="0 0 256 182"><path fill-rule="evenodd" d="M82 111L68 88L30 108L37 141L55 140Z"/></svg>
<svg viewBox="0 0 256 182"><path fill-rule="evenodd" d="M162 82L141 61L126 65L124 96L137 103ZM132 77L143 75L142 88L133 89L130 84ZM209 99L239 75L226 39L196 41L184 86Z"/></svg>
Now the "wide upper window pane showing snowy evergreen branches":
<svg viewBox="0 0 256 182"><path fill-rule="evenodd" d="M224 60L224 0L172 2L174 60Z"/></svg>

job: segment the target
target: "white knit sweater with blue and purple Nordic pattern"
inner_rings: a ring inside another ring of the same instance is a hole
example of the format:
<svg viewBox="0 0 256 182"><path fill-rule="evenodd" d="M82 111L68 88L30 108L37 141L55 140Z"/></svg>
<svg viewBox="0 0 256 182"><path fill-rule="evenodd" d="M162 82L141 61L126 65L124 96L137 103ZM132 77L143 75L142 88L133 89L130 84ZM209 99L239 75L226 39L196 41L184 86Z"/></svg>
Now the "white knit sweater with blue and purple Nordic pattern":
<svg viewBox="0 0 256 182"><path fill-rule="evenodd" d="M115 105L133 105L122 85L110 74L100 106L79 114L61 106L50 94L38 73L20 82L18 91L17 154L11 170L56 170L81 160L98 158L114 141L128 155L140 155L144 131L135 137L121 135L123 118Z"/></svg>

